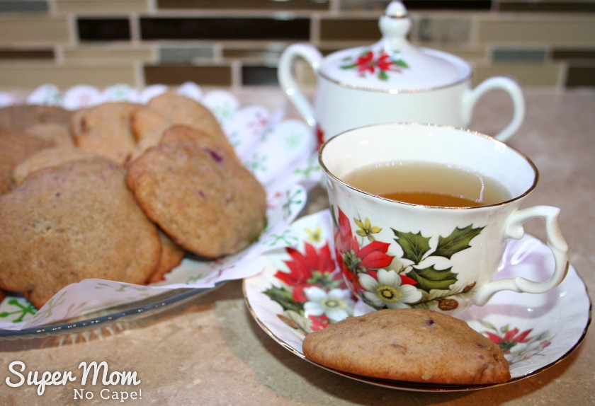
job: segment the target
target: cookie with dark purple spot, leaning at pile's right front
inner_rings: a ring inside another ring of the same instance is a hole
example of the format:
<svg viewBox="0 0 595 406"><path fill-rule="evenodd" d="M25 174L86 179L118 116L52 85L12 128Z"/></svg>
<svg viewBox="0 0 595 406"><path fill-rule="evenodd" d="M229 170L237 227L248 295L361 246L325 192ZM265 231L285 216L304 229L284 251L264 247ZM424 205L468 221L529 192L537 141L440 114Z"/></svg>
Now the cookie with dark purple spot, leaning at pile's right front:
<svg viewBox="0 0 595 406"><path fill-rule="evenodd" d="M176 244L215 258L239 252L261 233L266 192L218 137L184 125L128 166L137 202Z"/></svg>

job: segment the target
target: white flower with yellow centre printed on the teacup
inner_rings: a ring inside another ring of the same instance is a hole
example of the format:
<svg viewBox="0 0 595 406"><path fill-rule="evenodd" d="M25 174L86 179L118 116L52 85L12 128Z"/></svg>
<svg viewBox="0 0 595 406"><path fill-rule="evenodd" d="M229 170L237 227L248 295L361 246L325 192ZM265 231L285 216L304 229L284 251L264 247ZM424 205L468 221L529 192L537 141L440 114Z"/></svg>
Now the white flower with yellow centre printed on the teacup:
<svg viewBox="0 0 595 406"><path fill-rule="evenodd" d="M393 270L380 269L376 274L378 280L363 273L358 277L365 289L363 297L376 308L408 308L407 303L421 299L421 292L412 285L402 285L401 277Z"/></svg>

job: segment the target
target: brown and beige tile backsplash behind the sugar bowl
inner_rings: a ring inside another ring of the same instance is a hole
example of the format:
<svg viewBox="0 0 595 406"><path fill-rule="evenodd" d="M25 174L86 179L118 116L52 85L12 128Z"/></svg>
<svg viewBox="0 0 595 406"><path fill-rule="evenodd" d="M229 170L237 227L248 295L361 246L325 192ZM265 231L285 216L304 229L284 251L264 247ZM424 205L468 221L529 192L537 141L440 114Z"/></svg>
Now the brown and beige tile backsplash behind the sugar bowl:
<svg viewBox="0 0 595 406"><path fill-rule="evenodd" d="M0 87L276 86L280 53L380 39L387 0L0 0ZM412 0L409 40L457 54L473 80L595 86L595 0ZM314 83L305 66L298 77Z"/></svg>

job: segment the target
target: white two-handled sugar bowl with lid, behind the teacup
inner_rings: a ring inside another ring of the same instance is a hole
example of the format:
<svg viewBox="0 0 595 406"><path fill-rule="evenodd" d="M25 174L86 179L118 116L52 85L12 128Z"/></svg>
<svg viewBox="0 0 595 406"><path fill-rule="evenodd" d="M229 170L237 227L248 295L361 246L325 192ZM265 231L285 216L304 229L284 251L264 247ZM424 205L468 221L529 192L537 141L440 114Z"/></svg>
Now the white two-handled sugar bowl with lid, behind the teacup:
<svg viewBox="0 0 595 406"><path fill-rule="evenodd" d="M467 127L477 102L491 91L512 101L511 120L494 137L509 139L525 116L519 83L493 76L471 86L470 64L453 54L414 47L407 41L411 21L393 1L379 21L382 39L367 47L333 52L327 57L310 44L294 44L281 54L278 81L297 112L317 132L319 141L347 129L380 122L431 122ZM314 103L295 79L297 59L316 74Z"/></svg>

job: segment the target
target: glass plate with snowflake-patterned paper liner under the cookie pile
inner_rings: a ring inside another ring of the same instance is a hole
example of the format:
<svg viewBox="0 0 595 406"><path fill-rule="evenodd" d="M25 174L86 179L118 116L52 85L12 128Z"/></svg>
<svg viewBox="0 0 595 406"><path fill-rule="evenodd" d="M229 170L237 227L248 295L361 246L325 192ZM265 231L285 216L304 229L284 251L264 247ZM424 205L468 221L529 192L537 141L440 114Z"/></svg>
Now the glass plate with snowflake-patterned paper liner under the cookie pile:
<svg viewBox="0 0 595 406"><path fill-rule="evenodd" d="M60 93L55 86L44 85L24 100L0 93L0 105L60 105L72 110L107 101L145 103L168 89L149 86L137 91L117 85L99 91L81 85ZM260 272L262 253L289 244L283 234L305 207L307 187L319 182L316 140L310 129L298 120L285 119L282 110L241 106L228 91L203 93L195 83L184 83L176 91L213 112L246 168L265 186L267 226L259 240L242 253L214 261L187 255L157 284L85 279L65 286L38 311L23 297L6 296L0 303L0 340L70 334L160 313L159 309L171 308L229 280Z"/></svg>

